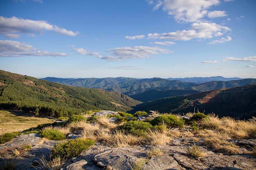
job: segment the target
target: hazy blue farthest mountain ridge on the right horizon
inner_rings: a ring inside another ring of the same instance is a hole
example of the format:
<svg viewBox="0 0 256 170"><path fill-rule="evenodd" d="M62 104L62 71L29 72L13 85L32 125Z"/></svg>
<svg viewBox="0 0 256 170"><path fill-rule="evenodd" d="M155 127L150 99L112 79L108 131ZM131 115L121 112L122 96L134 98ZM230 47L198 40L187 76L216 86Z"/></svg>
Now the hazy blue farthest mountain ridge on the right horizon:
<svg viewBox="0 0 256 170"><path fill-rule="evenodd" d="M198 83L198 84L209 82L209 81L231 81L231 80L241 80L241 79L243 78L239 78L239 77L225 78L222 76L168 78L168 80L179 80L183 82L192 82L192 83Z"/></svg>

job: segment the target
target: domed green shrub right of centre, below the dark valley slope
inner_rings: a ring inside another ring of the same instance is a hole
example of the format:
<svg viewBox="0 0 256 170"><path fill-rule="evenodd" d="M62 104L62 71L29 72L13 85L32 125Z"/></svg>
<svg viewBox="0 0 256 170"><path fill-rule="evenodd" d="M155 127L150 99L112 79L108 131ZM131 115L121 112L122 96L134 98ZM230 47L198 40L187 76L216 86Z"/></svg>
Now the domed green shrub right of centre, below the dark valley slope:
<svg viewBox="0 0 256 170"><path fill-rule="evenodd" d="M178 119L175 115L161 115L155 117L150 123L152 125L161 125L164 123L168 128L184 126L184 121Z"/></svg>

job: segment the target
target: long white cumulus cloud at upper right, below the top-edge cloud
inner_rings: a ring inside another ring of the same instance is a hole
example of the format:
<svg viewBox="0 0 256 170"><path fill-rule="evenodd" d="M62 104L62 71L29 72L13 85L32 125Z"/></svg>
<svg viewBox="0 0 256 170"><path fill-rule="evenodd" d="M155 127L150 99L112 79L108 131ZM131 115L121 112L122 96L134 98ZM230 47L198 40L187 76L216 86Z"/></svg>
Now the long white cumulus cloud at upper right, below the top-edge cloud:
<svg viewBox="0 0 256 170"><path fill-rule="evenodd" d="M149 33L148 39L171 39L187 41L194 38L213 38L214 36L220 36L222 32L231 31L229 27L225 27L216 23L199 22L192 23L191 30L182 30L168 33Z"/></svg>

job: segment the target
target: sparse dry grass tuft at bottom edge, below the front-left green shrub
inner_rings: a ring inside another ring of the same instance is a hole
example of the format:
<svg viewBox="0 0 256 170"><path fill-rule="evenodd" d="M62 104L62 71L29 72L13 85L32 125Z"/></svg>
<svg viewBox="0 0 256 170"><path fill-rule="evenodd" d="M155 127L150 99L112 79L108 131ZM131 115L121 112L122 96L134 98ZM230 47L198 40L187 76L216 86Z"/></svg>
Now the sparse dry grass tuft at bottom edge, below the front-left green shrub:
<svg viewBox="0 0 256 170"><path fill-rule="evenodd" d="M50 155L50 160L47 160L44 155L41 159L39 159L40 162L36 161L38 165L32 164L31 166L39 169L51 169L51 170L59 170L62 168L62 165L66 163L65 158L55 157L52 158Z"/></svg>

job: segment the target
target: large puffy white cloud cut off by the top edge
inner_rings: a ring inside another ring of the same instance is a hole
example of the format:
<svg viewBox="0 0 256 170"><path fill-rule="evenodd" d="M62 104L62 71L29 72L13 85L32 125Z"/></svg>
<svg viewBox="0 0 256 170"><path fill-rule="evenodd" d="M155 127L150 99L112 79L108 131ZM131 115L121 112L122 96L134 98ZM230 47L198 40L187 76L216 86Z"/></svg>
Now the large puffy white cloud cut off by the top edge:
<svg viewBox="0 0 256 170"><path fill-rule="evenodd" d="M207 9L220 4L220 0L164 0L162 8L176 21L195 22L204 18Z"/></svg>

